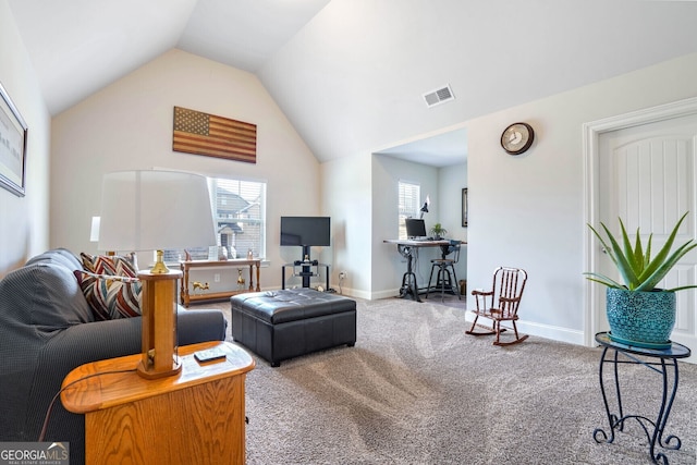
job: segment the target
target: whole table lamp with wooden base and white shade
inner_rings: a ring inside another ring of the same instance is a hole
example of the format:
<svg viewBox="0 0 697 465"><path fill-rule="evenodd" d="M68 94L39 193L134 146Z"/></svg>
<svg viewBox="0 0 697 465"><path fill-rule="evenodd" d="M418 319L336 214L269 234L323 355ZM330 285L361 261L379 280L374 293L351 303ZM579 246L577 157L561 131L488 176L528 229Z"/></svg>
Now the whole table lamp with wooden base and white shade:
<svg viewBox="0 0 697 465"><path fill-rule="evenodd" d="M176 171L118 171L103 178L100 250L157 250L143 283L143 357L137 372L155 379L175 375L182 365L176 347L176 280L167 268L166 248L216 245L213 216L204 176Z"/></svg>

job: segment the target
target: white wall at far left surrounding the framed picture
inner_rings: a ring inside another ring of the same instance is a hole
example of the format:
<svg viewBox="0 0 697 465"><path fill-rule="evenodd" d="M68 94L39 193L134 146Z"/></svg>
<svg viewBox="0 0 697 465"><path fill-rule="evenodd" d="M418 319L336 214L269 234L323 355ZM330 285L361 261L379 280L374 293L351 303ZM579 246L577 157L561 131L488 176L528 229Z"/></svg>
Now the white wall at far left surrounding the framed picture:
<svg viewBox="0 0 697 465"><path fill-rule="evenodd" d="M49 243L50 115L5 0L0 1L0 83L28 131L26 196L0 188L0 277L44 252Z"/></svg>

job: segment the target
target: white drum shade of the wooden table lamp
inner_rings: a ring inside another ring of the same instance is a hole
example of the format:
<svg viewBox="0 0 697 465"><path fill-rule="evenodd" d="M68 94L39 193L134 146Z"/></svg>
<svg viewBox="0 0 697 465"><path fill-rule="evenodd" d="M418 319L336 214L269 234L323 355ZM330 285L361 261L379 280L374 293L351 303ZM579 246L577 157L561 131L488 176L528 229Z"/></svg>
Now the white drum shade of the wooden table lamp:
<svg viewBox="0 0 697 465"><path fill-rule="evenodd" d="M101 192L100 250L216 245L206 178L178 171L118 171Z"/></svg>

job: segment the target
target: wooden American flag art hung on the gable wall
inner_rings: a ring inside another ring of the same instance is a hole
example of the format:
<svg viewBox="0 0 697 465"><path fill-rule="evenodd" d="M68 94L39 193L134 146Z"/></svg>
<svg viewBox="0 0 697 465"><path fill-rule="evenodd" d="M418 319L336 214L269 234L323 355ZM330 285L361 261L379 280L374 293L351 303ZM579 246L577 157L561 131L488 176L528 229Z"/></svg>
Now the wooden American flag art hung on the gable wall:
<svg viewBox="0 0 697 465"><path fill-rule="evenodd" d="M174 107L172 150L257 162L257 125Z"/></svg>

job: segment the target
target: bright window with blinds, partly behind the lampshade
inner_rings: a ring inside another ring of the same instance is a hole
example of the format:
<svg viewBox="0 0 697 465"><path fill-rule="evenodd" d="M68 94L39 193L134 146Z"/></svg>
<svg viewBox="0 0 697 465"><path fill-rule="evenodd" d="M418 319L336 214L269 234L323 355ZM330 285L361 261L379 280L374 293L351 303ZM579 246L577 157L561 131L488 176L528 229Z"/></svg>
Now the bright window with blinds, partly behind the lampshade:
<svg viewBox="0 0 697 465"><path fill-rule="evenodd" d="M208 178L218 245L228 258L266 256L266 183ZM194 260L208 259L208 247L187 248ZM166 261L184 257L183 249L164 250Z"/></svg>

